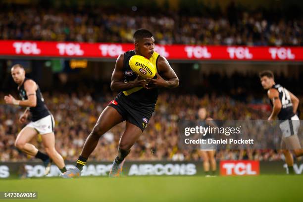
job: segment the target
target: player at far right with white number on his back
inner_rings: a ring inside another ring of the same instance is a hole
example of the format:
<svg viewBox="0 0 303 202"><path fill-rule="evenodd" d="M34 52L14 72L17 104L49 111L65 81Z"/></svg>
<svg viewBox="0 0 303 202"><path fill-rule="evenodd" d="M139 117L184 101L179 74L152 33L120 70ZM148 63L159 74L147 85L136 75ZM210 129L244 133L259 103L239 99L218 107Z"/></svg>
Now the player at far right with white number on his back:
<svg viewBox="0 0 303 202"><path fill-rule="evenodd" d="M299 99L280 84L276 84L271 71L262 71L259 77L262 87L268 90L267 96L272 105L272 112L268 120L274 120L278 116L279 127L282 132L281 149L285 155L289 173L294 173L294 159L289 149L293 150L297 157L303 155L298 138L300 119L297 115L297 109Z"/></svg>

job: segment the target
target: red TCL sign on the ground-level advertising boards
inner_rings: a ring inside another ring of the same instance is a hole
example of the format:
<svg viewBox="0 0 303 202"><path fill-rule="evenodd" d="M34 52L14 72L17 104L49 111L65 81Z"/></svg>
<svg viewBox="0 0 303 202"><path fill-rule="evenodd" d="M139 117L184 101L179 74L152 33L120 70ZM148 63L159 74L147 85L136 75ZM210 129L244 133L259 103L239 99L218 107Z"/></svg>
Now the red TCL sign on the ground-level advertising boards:
<svg viewBox="0 0 303 202"><path fill-rule="evenodd" d="M221 175L258 175L259 161L255 160L224 160L220 161Z"/></svg>

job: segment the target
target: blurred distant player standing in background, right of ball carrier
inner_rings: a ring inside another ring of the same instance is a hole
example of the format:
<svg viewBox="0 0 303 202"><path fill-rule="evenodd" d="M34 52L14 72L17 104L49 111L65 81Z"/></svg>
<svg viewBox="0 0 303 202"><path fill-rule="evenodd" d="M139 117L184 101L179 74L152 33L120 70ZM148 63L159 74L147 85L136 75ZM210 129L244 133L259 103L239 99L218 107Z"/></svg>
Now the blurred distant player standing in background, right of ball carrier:
<svg viewBox="0 0 303 202"><path fill-rule="evenodd" d="M212 118L207 117L207 111L206 111L205 107L202 107L199 109L198 116L199 116L198 124L200 126L216 127L216 124L212 121ZM213 138L212 134L208 133L205 136L203 136L203 139L207 140L208 138L212 139ZM214 147L215 146L212 144L211 145L210 144L202 145L202 149L200 150L200 153L203 158L203 169L204 169L206 177L209 177L210 176L209 174L211 174L211 175L216 174L217 163L216 163L216 159L215 159L216 150ZM209 172L210 168L211 168L211 173Z"/></svg>

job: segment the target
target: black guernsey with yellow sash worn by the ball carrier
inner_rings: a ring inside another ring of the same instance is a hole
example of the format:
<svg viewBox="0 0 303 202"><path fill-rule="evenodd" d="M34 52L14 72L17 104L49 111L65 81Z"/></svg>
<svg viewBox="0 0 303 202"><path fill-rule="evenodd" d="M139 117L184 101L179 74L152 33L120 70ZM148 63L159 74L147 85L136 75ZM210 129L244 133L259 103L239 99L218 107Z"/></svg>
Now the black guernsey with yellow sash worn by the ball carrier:
<svg viewBox="0 0 303 202"><path fill-rule="evenodd" d="M129 50L124 53L123 58L123 74L124 74L124 82L130 82L137 78L137 74L135 74L129 66L129 59L136 55L135 50ZM156 59L150 58L150 60L155 60L154 63L157 63L158 55ZM136 90L137 89L137 90ZM139 89L139 90L138 90ZM158 99L158 88L153 89L145 89L145 88L133 88L128 91L120 92L117 95L117 98L123 99L127 101L130 105L133 105L134 108L144 108L154 110L155 103Z"/></svg>

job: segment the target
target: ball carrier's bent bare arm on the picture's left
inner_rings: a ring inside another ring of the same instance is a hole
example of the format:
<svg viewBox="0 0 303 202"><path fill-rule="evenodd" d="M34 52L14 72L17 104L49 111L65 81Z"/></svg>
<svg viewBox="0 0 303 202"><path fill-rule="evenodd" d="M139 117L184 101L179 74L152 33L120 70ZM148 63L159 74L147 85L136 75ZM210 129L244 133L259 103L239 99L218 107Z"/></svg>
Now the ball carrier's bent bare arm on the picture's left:
<svg viewBox="0 0 303 202"><path fill-rule="evenodd" d="M146 80L140 80L139 77L134 81L125 83L123 81L123 57L124 54L120 54L117 58L115 69L111 75L110 89L114 92L126 91L134 87L146 87Z"/></svg>

